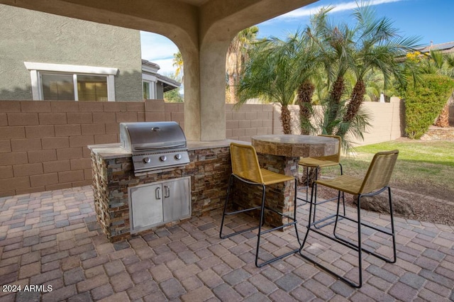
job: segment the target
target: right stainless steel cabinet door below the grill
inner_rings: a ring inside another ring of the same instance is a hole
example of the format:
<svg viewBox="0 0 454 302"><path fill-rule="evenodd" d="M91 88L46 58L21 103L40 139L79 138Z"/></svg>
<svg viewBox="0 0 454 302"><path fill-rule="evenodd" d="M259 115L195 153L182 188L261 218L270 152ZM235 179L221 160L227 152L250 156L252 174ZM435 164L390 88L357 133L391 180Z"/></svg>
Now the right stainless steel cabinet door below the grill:
<svg viewBox="0 0 454 302"><path fill-rule="evenodd" d="M191 216L189 177L164 182L162 194L165 222Z"/></svg>

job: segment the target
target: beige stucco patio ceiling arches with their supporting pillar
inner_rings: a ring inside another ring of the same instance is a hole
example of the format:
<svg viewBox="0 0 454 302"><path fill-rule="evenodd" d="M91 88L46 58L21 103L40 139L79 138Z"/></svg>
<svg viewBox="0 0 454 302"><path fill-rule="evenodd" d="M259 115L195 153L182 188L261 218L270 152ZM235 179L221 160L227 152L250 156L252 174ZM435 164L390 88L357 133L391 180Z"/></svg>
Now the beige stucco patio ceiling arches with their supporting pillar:
<svg viewBox="0 0 454 302"><path fill-rule="evenodd" d="M60 16L145 30L170 38L184 60L184 132L188 140L226 138L225 60L244 28L316 0L0 0Z"/></svg>

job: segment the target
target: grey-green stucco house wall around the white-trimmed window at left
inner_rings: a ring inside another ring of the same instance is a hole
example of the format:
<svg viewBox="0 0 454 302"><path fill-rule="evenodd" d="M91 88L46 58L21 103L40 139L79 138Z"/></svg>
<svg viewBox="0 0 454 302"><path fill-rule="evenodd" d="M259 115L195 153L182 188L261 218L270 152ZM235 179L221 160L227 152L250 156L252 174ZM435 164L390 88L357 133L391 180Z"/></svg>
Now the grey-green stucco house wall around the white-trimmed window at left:
<svg viewBox="0 0 454 302"><path fill-rule="evenodd" d="M118 68L116 101L142 99L138 30L0 4L0 100L30 100L23 62Z"/></svg>

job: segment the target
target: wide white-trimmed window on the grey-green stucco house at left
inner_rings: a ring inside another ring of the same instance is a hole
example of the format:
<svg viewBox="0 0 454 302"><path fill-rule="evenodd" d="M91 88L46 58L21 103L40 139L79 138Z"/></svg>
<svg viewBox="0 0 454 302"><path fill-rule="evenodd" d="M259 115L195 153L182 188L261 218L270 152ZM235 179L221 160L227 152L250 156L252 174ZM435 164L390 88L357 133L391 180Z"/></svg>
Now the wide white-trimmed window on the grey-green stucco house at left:
<svg viewBox="0 0 454 302"><path fill-rule="evenodd" d="M34 100L115 101L116 68L24 63Z"/></svg>

